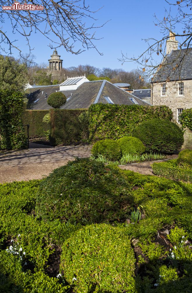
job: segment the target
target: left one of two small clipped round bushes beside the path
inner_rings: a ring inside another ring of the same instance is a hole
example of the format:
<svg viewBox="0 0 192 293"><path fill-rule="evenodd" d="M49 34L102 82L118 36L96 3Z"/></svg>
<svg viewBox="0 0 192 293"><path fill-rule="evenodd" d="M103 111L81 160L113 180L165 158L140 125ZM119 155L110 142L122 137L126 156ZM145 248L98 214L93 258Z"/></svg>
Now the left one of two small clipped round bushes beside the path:
<svg viewBox="0 0 192 293"><path fill-rule="evenodd" d="M119 160L121 158L121 147L113 139L104 139L96 142L91 150L94 156L102 155L109 160Z"/></svg>

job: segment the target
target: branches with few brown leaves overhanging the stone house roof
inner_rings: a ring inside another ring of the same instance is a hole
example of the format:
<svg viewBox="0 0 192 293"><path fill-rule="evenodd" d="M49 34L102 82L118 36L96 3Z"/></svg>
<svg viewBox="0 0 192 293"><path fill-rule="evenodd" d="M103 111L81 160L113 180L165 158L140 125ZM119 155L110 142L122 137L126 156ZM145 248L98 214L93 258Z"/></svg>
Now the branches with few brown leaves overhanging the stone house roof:
<svg viewBox="0 0 192 293"><path fill-rule="evenodd" d="M159 20L155 15L155 25L160 28L160 32L163 37L158 40L156 38L147 38L144 41L147 43L147 48L138 57L130 57L127 54L122 53L122 63L135 61L138 64L139 70L142 72L140 78L149 78L155 71L162 68L162 66L169 65L166 60L166 41L169 38L170 33L178 41L178 49L191 48L192 45L192 0L165 0L169 9L165 10L165 16L162 20ZM162 3L161 3L162 6ZM172 13L172 11L177 13ZM157 58L158 56L158 58ZM179 58L178 54L175 60L172 60L173 70L175 70L175 64L177 67L182 65L183 59ZM158 59L158 61L157 61ZM180 67L181 68L181 67Z"/></svg>

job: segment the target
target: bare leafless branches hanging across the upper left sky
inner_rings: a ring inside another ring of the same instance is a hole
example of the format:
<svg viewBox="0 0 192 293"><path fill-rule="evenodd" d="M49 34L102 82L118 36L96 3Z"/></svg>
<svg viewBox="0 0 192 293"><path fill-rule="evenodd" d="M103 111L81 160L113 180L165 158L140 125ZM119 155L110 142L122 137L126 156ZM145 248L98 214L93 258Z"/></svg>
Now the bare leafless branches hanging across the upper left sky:
<svg viewBox="0 0 192 293"><path fill-rule="evenodd" d="M1 1L0 6L11 6L14 1ZM27 1L26 1L27 2ZM68 52L79 54L89 48L96 48L95 29L103 25L95 25L95 13L85 0L67 1L29 1L30 4L44 6L44 10L2 10L0 11L0 49L6 54L5 44L8 44L9 53L13 48L21 52L18 43L18 34L22 35L30 47L29 38L32 32L40 32L50 41L51 48L65 47ZM4 23L9 19L12 34L8 35ZM97 50L98 51L98 50ZM99 51L98 51L99 52ZM100 53L100 52L99 52ZM101 53L100 53L101 54Z"/></svg>

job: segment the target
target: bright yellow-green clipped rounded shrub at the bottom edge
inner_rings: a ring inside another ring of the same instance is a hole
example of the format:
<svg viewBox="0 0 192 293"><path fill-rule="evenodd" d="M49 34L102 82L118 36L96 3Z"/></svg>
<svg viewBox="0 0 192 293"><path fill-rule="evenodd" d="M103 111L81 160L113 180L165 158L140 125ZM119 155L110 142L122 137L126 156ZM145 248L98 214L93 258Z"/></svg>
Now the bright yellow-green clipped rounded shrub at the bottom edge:
<svg viewBox="0 0 192 293"><path fill-rule="evenodd" d="M60 271L76 293L136 292L134 252L122 226L97 224L77 231L62 246Z"/></svg>

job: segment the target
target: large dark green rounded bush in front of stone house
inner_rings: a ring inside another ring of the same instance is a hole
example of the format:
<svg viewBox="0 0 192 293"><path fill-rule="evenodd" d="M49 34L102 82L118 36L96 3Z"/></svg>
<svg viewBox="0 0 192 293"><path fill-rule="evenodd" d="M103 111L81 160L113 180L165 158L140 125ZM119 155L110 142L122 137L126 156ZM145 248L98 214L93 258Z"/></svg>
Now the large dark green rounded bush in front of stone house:
<svg viewBox="0 0 192 293"><path fill-rule="evenodd" d="M133 130L133 136L143 142L146 151L173 153L184 143L182 130L176 124L163 119L142 122Z"/></svg>

